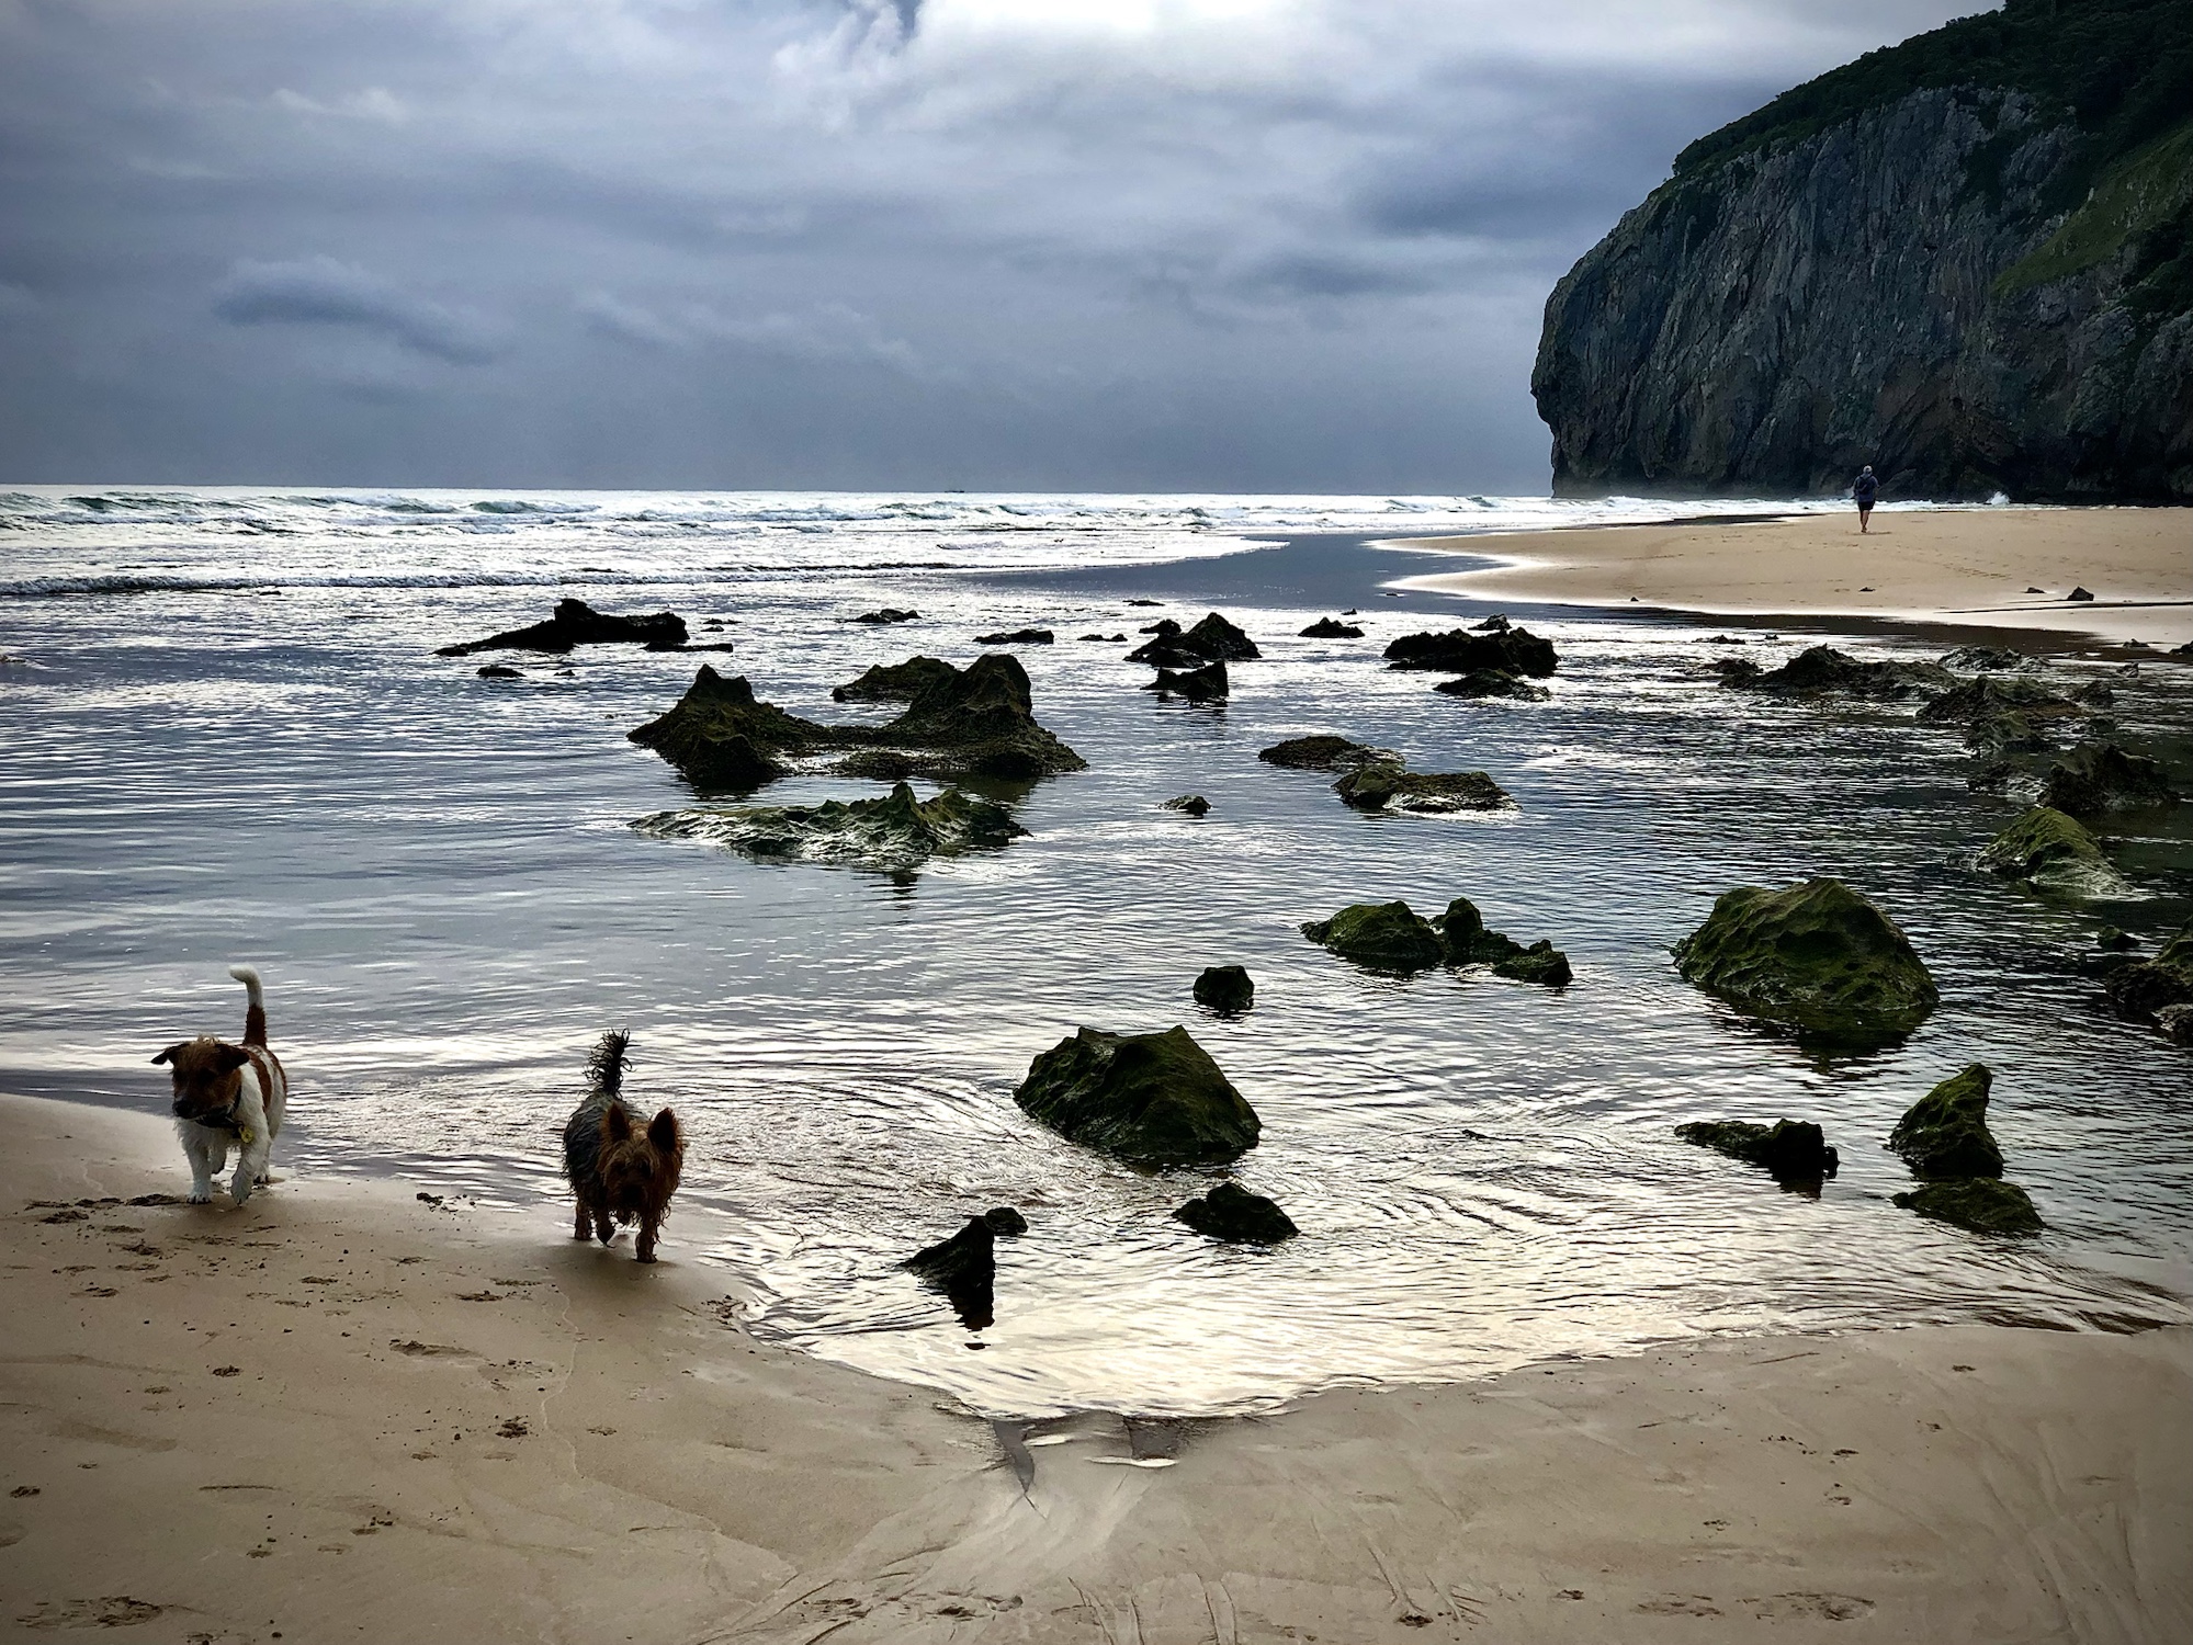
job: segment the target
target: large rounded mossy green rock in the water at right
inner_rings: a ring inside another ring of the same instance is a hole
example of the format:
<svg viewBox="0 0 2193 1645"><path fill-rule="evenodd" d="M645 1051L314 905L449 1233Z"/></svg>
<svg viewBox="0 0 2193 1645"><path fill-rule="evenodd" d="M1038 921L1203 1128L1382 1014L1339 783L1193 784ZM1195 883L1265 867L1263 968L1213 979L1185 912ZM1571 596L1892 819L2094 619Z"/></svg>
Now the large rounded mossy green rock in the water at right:
<svg viewBox="0 0 2193 1645"><path fill-rule="evenodd" d="M1708 994L1822 1042L1899 1040L1939 998L1895 921L1840 880L1726 890L1673 954Z"/></svg>

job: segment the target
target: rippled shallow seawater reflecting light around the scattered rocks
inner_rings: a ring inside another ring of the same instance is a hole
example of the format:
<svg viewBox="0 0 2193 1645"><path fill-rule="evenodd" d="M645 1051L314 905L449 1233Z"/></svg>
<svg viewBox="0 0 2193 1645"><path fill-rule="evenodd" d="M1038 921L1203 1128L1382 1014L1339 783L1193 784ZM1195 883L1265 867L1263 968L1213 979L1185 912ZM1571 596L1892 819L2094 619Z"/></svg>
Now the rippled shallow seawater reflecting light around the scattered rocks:
<svg viewBox="0 0 2193 1645"><path fill-rule="evenodd" d="M1965 787L1954 733L1726 693L1702 667L1728 651L1711 634L1772 665L1796 632L1509 608L1561 649L1546 704L1447 700L1377 660L1489 608L1388 597L1467 561L1364 535L1651 504L86 496L0 498L0 649L24 660L0 669L7 1088L158 1110L147 1057L235 1033L224 969L250 958L298 1092L292 1162L537 1204L559 1237L557 1130L594 1035L629 1026L632 1094L691 1134L667 1252L704 1239L761 1331L989 1413L1241 1410L1726 1331L2193 1316L2193 1064L2103 1016L2081 969L2103 912L2143 937L2186 917L2184 838L2138 844L2145 899L2099 912L1974 875L2013 807ZM1050 625L1057 645L1018 654L1090 770L1018 803L1031 838L914 877L647 840L629 820L691 794L623 733L693 658L592 647L559 676L509 656L526 678L491 682L489 658L432 656L557 592L721 619L695 638L737 654L708 660L818 719L888 717L829 702L871 662L965 662L978 632ZM842 621L884 603L923 621ZM1294 638L1344 605L1371 638ZM1224 708L1160 702L1127 645L1075 638L1208 608L1265 649ZM2193 671L2151 662L2118 691L2127 730L2193 726ZM1520 809L1366 818L1254 759L1311 730L1489 770ZM1182 792L1211 816L1158 809ZM1873 895L1934 969L1943 1005L1904 1046L1814 1057L1673 974L1713 895L1811 873ZM1553 937L1577 983L1397 983L1296 932L1454 895ZM1257 978L1235 1022L1189 1000L1222 961ZM1211 1246L1167 1217L1195 1173L1134 1173L1022 1116L1029 1057L1083 1022L1186 1022L1263 1114L1241 1180L1305 1235ZM1879 1138L1972 1059L1998 1073L2039 1239L1888 1204L1908 1178ZM1818 1200L1671 1136L1776 1114L1842 1147ZM1000 1202L1031 1230L1000 1241L998 1320L969 1334L895 1261Z"/></svg>

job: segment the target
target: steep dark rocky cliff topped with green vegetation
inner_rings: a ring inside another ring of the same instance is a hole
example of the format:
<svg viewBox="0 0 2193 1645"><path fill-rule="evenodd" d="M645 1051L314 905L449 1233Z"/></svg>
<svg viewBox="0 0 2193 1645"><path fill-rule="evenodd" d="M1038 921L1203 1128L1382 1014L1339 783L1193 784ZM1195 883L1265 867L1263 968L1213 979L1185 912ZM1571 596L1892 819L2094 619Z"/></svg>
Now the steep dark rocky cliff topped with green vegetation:
<svg viewBox="0 0 2193 1645"><path fill-rule="evenodd" d="M1693 143L1531 388L1561 496L2193 500L2193 4L2011 0Z"/></svg>

